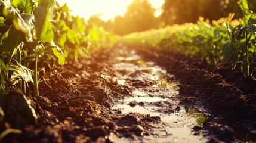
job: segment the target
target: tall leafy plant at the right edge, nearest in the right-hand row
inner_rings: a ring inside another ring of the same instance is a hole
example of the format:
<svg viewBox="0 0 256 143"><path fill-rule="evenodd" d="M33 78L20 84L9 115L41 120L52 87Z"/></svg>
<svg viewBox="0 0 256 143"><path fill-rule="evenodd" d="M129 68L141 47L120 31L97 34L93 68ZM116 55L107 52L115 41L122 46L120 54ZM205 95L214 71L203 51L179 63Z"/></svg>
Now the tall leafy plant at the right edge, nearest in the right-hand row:
<svg viewBox="0 0 256 143"><path fill-rule="evenodd" d="M250 67L253 63L256 43L256 13L249 10L246 0L238 1L238 5L243 11L242 23L232 30L230 41L223 46L230 49L228 52L233 53L232 57L237 57L235 67L240 64L241 71L245 71L246 76L249 76L253 71Z"/></svg>

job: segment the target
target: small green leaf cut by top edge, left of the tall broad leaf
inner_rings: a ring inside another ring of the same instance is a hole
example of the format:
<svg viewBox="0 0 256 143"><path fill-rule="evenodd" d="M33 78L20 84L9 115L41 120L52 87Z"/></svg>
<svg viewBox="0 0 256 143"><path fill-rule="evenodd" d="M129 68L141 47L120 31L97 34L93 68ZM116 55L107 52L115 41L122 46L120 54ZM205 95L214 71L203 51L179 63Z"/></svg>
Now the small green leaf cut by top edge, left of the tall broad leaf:
<svg viewBox="0 0 256 143"><path fill-rule="evenodd" d="M32 14L39 0L11 0L11 4L17 7L22 13Z"/></svg>

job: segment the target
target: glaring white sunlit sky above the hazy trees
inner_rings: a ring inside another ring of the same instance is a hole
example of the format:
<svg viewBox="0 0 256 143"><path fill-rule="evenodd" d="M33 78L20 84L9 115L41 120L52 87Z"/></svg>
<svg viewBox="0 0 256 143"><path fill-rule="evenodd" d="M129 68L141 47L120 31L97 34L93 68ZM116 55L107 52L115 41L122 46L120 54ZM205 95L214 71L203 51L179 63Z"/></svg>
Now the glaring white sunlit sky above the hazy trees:
<svg viewBox="0 0 256 143"><path fill-rule="evenodd" d="M79 15L88 19L92 15L101 14L101 19L107 21L116 15L124 15L127 5L132 0L57 0L60 5L67 3L73 15ZM156 8L155 16L160 15L164 0L149 0L153 8Z"/></svg>

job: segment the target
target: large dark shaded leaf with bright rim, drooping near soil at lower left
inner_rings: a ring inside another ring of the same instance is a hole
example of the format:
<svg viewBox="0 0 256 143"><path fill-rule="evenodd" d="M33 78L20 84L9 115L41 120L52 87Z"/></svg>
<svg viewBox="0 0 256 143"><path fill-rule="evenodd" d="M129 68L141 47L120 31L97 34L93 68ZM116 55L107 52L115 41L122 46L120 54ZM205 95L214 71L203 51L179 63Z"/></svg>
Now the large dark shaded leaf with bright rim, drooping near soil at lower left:
<svg viewBox="0 0 256 143"><path fill-rule="evenodd" d="M24 125L35 125L38 117L25 95L10 91L0 95L0 106L5 114L5 120L11 128L21 128Z"/></svg>

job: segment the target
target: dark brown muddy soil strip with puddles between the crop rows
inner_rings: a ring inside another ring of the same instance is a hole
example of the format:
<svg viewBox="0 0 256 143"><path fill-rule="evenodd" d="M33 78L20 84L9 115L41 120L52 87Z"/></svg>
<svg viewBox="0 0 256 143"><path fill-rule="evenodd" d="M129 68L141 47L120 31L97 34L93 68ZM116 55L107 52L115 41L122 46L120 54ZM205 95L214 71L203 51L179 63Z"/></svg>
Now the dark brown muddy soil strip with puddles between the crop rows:
<svg viewBox="0 0 256 143"><path fill-rule="evenodd" d="M256 141L256 79L230 66L120 42L45 78L4 142Z"/></svg>

